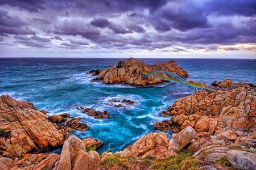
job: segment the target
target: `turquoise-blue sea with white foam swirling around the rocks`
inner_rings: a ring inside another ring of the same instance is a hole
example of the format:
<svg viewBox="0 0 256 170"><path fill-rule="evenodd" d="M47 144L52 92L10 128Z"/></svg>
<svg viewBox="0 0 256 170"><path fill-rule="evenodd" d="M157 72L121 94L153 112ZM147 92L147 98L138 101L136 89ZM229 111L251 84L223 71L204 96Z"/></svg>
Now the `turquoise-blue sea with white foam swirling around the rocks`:
<svg viewBox="0 0 256 170"><path fill-rule="evenodd" d="M91 128L76 131L80 138L93 137L104 143L98 152L113 148L120 151L149 132L152 121L168 120L158 113L176 99L188 96L187 87L165 83L153 87L130 87L90 82L85 75L92 69L105 69L118 58L0 58L0 94L17 100L33 102L49 114L70 113L84 118ZM170 59L143 59L148 64ZM189 80L212 83L231 78L234 82L256 84L255 59L174 59L189 73ZM135 105L114 108L109 99L130 99ZM76 109L76 106L108 110L109 118L96 120ZM170 136L170 134L168 134Z"/></svg>

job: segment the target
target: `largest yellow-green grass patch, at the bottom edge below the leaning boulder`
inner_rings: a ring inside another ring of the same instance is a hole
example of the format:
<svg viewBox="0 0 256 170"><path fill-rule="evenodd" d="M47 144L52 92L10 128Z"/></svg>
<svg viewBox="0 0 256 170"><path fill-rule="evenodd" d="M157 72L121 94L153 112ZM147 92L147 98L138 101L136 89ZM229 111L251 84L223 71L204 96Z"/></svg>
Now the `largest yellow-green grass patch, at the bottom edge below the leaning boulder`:
<svg viewBox="0 0 256 170"><path fill-rule="evenodd" d="M151 168L164 170L164 169L179 169L179 170L192 170L198 169L203 163L192 157L193 152L183 150L179 155L172 156L168 159L156 159Z"/></svg>

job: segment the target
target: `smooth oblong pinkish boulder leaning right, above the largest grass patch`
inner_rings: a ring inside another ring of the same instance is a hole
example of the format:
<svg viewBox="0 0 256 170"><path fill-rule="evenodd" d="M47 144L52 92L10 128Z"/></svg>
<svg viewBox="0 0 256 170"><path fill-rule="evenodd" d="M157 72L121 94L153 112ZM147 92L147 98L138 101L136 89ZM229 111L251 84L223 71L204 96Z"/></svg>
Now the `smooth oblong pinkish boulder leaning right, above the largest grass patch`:
<svg viewBox="0 0 256 170"><path fill-rule="evenodd" d="M191 128L191 126L181 130L177 134L172 134L172 138L168 146L168 156L176 156L179 151L191 143L195 135L196 131Z"/></svg>

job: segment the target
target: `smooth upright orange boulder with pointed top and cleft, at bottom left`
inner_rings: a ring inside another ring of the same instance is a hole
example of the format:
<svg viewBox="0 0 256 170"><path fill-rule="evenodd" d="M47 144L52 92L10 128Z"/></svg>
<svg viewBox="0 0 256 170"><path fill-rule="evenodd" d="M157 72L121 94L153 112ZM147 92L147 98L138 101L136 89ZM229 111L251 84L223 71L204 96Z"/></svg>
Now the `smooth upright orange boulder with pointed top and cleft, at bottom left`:
<svg viewBox="0 0 256 170"><path fill-rule="evenodd" d="M98 169L100 156L96 151L86 152L85 145L76 136L70 136L63 145L56 169Z"/></svg>

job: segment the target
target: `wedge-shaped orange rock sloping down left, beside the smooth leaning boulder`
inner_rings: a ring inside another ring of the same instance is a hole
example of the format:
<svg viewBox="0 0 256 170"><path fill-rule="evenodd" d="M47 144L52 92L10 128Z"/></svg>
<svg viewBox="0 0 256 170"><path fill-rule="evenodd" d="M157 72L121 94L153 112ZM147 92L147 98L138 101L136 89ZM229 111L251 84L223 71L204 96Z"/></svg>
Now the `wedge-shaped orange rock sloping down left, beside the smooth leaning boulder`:
<svg viewBox="0 0 256 170"><path fill-rule="evenodd" d="M125 148L115 154L123 156L135 156L145 158L152 156L154 158L167 158L168 138L164 133L148 133L139 138L133 145Z"/></svg>

